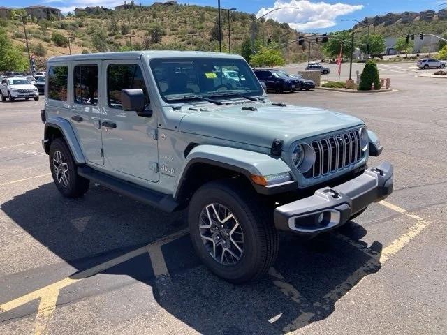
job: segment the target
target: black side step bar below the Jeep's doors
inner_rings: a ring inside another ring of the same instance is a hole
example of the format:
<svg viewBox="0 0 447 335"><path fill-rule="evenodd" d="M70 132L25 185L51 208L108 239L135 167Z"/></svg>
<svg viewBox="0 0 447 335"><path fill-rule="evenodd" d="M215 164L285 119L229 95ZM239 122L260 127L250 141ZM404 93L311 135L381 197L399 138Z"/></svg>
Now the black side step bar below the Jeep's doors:
<svg viewBox="0 0 447 335"><path fill-rule="evenodd" d="M141 186L131 184L127 181L122 181L107 174L98 172L88 166L78 166L78 174L95 183L101 184L112 191L126 195L145 204L150 204L152 207L161 209L171 213L179 207L179 203L173 198L173 195L163 194L156 191L143 188Z"/></svg>

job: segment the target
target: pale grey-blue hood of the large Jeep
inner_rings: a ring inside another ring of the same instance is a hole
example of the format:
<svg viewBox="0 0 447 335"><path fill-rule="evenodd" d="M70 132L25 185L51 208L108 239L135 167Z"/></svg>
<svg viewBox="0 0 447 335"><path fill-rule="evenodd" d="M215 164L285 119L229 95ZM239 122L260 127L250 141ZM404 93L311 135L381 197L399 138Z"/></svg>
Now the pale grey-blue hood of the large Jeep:
<svg viewBox="0 0 447 335"><path fill-rule="evenodd" d="M256 110L242 110L242 107L256 107ZM312 107L254 103L207 105L206 108L207 111L186 114L179 130L266 148L279 139L284 141L286 151L296 140L363 124L356 117Z"/></svg>

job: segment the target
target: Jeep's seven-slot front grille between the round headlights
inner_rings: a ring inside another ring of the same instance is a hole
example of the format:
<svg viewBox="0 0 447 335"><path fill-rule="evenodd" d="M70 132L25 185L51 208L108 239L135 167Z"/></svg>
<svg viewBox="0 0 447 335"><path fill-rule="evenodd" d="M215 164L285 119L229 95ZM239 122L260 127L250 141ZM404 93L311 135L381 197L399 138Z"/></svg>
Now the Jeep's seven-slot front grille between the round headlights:
<svg viewBox="0 0 447 335"><path fill-rule="evenodd" d="M312 168L306 178L320 177L330 172L349 168L363 158L359 130L325 137L310 143L315 153Z"/></svg>

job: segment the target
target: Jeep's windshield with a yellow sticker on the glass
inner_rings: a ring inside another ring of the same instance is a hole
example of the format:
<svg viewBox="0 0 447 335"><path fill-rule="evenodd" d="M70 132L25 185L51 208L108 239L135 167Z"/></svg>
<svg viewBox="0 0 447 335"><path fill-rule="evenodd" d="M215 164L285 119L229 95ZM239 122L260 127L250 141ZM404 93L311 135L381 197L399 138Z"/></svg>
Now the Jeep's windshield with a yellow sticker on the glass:
<svg viewBox="0 0 447 335"><path fill-rule="evenodd" d="M150 66L161 97L166 102L192 96L228 96L231 93L263 95L261 84L242 59L152 59Z"/></svg>

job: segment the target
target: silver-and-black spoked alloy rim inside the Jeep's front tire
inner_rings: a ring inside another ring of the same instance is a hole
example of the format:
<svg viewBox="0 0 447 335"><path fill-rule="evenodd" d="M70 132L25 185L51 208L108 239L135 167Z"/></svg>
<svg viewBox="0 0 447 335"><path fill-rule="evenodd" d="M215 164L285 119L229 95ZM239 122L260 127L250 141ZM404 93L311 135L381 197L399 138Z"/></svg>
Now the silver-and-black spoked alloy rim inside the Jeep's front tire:
<svg viewBox="0 0 447 335"><path fill-rule="evenodd" d="M203 245L221 265L237 264L244 253L244 232L237 218L222 204L207 204L200 212Z"/></svg>

